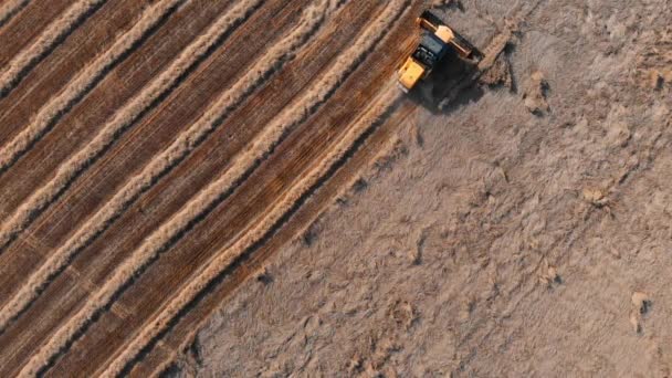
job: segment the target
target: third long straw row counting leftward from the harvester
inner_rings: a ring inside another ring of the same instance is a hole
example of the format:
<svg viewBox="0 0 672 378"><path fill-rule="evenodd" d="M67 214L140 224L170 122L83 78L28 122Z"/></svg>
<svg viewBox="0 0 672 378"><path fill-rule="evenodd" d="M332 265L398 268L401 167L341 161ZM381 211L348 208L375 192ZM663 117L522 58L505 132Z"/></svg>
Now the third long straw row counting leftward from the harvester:
<svg viewBox="0 0 672 378"><path fill-rule="evenodd" d="M228 90L219 101L190 128L185 130L166 150L156 156L141 172L130 178L111 201L88 219L77 232L57 249L49 260L33 273L18 294L0 312L0 328L22 312L43 291L48 282L60 273L73 255L91 243L106 227L125 211L130 202L146 191L168 170L181 162L217 126L222 117L240 104L270 73L279 69L288 52L303 43L301 36L290 44L279 44L266 53L248 74Z"/></svg>

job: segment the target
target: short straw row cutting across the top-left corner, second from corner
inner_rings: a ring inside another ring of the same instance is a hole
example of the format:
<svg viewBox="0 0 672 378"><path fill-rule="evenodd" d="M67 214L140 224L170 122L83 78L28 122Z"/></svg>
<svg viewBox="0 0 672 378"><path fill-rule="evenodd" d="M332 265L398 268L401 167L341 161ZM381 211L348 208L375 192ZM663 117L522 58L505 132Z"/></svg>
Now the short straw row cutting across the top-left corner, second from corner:
<svg viewBox="0 0 672 378"><path fill-rule="evenodd" d="M76 28L93 14L106 0L80 0L72 4L65 13L52 22L30 48L19 52L0 74L0 97L13 87L32 70L44 56L49 55Z"/></svg>

